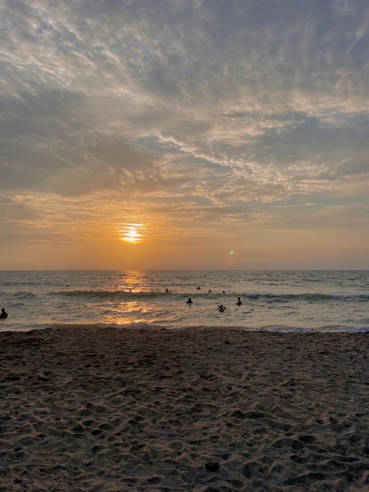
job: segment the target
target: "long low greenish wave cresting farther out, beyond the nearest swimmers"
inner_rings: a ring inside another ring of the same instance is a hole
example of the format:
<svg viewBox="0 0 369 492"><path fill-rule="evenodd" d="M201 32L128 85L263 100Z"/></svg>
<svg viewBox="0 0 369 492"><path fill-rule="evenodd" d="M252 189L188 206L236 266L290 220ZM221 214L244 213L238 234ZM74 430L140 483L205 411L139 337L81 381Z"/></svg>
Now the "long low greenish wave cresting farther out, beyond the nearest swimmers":
<svg viewBox="0 0 369 492"><path fill-rule="evenodd" d="M109 300L135 300L135 299L145 299L154 297L168 297L185 299L188 297L193 297L194 299L198 296L204 298L214 298L219 299L220 297L235 297L240 296L242 298L248 299L266 299L275 301L291 301L291 300L305 300L305 301L324 301L324 300L342 300L342 301L368 301L369 294L358 293L358 294L335 294L335 293L300 293L300 294L290 294L290 293L253 293L253 292L229 292L226 294L222 293L208 293L208 292L186 292L186 293L176 293L176 292L158 292L158 291L139 291L139 292L128 292L126 290L63 290L60 292L52 292L51 294L60 294L67 297L84 297L89 299L109 299Z"/></svg>

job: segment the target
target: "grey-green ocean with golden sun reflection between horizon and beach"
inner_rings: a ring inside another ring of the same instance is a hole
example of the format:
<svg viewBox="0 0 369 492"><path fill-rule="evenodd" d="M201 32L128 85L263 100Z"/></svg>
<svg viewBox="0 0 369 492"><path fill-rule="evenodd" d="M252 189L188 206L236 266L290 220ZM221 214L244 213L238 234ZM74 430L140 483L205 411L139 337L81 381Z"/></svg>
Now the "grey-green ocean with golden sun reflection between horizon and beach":
<svg viewBox="0 0 369 492"><path fill-rule="evenodd" d="M96 324L369 331L367 270L1 271L0 285L0 308L9 313L0 331Z"/></svg>

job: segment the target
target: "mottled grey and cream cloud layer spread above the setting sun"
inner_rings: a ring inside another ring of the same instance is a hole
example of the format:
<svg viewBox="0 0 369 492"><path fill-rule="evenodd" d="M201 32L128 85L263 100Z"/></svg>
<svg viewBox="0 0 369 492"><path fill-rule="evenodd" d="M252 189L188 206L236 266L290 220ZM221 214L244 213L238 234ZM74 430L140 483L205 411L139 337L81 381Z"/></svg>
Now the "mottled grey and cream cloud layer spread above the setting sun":
<svg viewBox="0 0 369 492"><path fill-rule="evenodd" d="M14 196L58 202L63 217L95 197L109 227L121 204L147 213L155 200L170 201L168 223L180 203L186 223L249 224L296 195L354 203L369 184L364 1L1 9L0 180ZM32 203L5 210L59 220Z"/></svg>

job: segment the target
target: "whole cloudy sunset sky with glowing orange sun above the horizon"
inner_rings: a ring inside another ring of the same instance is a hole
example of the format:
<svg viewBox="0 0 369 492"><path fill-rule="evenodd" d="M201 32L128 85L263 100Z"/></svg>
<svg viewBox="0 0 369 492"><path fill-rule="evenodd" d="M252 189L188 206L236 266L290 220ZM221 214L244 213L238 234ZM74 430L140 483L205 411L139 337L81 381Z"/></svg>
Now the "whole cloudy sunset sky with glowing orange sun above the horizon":
<svg viewBox="0 0 369 492"><path fill-rule="evenodd" d="M368 269L368 75L367 0L0 0L0 269Z"/></svg>

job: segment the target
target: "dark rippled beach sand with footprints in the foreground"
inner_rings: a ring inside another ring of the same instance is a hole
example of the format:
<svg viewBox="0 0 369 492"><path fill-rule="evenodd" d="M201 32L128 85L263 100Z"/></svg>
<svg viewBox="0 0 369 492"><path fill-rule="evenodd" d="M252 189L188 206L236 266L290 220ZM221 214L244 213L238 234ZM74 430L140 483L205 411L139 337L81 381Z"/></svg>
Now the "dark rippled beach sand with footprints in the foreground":
<svg viewBox="0 0 369 492"><path fill-rule="evenodd" d="M369 490L369 335L0 334L0 490Z"/></svg>

